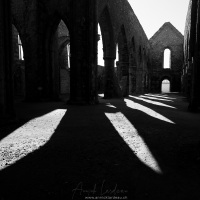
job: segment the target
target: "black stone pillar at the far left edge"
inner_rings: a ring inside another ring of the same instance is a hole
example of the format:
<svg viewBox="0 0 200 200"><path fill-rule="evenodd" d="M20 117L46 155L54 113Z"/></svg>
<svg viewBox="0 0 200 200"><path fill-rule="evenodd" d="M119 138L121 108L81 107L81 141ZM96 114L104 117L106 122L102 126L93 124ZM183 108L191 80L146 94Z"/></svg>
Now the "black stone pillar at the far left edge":
<svg viewBox="0 0 200 200"><path fill-rule="evenodd" d="M0 1L0 118L14 117L10 1Z"/></svg>

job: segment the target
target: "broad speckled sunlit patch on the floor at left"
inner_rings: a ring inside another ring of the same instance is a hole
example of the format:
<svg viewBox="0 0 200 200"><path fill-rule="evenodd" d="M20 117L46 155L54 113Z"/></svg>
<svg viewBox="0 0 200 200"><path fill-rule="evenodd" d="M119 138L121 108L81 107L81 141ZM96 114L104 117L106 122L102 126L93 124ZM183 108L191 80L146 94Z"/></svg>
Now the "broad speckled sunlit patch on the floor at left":
<svg viewBox="0 0 200 200"><path fill-rule="evenodd" d="M0 141L0 170L45 145L67 110L58 109L35 118Z"/></svg>

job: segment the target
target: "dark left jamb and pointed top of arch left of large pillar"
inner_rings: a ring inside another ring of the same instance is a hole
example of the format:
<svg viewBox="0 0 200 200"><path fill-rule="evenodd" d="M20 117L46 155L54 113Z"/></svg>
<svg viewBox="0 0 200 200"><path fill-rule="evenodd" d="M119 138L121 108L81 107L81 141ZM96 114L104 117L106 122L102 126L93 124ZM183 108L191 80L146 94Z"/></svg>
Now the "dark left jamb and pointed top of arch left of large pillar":
<svg viewBox="0 0 200 200"><path fill-rule="evenodd" d="M60 96L60 66L59 66L59 51L58 51L58 26L61 22L66 25L69 35L70 27L68 20L62 19L58 14L52 17L47 24L46 32L44 34L44 52L45 58L43 59L44 65L44 83L45 96L58 99Z"/></svg>

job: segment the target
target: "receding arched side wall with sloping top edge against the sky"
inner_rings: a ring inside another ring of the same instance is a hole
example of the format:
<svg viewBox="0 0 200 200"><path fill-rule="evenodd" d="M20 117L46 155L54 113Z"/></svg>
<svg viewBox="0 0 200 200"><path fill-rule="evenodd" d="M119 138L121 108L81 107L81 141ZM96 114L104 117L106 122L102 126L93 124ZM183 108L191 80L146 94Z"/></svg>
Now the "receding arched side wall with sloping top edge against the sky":
<svg viewBox="0 0 200 200"><path fill-rule="evenodd" d="M146 88L145 80L148 74L149 41L147 36L128 1L110 0L107 7L111 16L115 43L119 43L119 53L124 54L124 47L127 46L126 52L128 52L128 55L119 55L119 57L128 57L128 59L125 59L129 70L128 92L142 93ZM122 26L124 27L125 34L122 34ZM118 66L123 68L123 65L124 59L121 59ZM125 90L127 91L127 89Z"/></svg>

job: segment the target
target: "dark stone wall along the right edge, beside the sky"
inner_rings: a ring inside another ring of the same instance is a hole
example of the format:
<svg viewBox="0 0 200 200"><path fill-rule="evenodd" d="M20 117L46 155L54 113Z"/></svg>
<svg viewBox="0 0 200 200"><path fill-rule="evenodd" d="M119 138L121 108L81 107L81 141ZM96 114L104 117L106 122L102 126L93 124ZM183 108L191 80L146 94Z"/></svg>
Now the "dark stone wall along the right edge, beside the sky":
<svg viewBox="0 0 200 200"><path fill-rule="evenodd" d="M184 36L183 92L189 100L189 110L200 106L200 1L190 0Z"/></svg>

